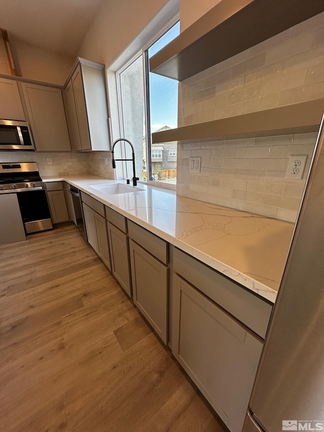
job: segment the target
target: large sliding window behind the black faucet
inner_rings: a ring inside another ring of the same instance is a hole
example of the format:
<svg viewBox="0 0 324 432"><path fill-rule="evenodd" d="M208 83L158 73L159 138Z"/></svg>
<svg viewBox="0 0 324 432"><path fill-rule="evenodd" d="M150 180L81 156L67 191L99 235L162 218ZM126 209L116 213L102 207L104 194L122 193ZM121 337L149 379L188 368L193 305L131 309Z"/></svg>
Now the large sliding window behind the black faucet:
<svg viewBox="0 0 324 432"><path fill-rule="evenodd" d="M120 133L134 145L137 177L176 184L177 162L163 160L163 151L151 145L152 132L176 128L178 123L178 82L149 72L149 58L179 34L179 22L166 30L117 72L117 92ZM131 159L129 145L116 147L116 159ZM132 162L120 163L117 175L132 178Z"/></svg>

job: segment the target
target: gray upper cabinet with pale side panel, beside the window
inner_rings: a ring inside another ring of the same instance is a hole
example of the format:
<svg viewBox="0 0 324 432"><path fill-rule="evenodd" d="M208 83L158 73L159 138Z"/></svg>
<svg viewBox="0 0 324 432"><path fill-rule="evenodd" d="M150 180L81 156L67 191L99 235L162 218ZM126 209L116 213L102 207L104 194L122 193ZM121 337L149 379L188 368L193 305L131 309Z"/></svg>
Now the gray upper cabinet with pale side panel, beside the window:
<svg viewBox="0 0 324 432"><path fill-rule="evenodd" d="M78 58L65 92L75 150L109 150L104 65Z"/></svg>

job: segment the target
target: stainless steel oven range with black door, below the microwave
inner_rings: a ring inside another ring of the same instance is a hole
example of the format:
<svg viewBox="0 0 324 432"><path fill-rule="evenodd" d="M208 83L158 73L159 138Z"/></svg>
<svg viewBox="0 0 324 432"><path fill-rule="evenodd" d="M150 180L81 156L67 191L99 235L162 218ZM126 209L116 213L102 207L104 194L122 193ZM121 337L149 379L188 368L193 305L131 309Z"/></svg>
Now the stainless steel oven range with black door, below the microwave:
<svg viewBox="0 0 324 432"><path fill-rule="evenodd" d="M0 194L16 193L26 234L53 228L37 164L0 164Z"/></svg>

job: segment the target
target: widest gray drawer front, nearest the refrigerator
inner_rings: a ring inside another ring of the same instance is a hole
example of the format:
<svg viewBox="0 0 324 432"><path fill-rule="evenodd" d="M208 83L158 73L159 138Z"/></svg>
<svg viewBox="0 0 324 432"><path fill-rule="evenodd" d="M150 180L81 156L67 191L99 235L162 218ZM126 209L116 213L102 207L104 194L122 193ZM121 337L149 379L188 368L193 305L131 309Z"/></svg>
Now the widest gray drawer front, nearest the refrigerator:
<svg viewBox="0 0 324 432"><path fill-rule="evenodd" d="M238 321L265 338L271 304L177 248L174 249L174 271Z"/></svg>

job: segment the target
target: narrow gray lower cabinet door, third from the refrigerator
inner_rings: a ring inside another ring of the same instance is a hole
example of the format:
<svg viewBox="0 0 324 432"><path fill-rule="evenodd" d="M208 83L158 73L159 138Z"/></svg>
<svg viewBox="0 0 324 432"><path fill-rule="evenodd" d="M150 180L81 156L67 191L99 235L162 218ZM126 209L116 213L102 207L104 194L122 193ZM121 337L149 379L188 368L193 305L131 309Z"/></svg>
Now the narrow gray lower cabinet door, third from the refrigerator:
<svg viewBox="0 0 324 432"><path fill-rule="evenodd" d="M111 223L107 222L109 247L111 257L111 271L117 279L121 287L131 297L131 280L130 280L130 265L129 265L129 249L127 235L116 228Z"/></svg>

